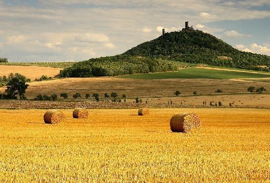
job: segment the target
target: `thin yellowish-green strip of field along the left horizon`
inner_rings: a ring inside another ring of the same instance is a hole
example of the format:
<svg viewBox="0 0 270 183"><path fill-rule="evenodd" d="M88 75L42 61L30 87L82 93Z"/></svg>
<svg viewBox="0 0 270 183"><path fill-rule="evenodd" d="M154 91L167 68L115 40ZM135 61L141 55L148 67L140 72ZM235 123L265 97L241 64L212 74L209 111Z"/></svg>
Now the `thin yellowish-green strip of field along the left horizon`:
<svg viewBox="0 0 270 183"><path fill-rule="evenodd" d="M73 61L36 61L36 62L0 62L0 65L26 65L26 66L43 66L54 68L67 68L74 64Z"/></svg>

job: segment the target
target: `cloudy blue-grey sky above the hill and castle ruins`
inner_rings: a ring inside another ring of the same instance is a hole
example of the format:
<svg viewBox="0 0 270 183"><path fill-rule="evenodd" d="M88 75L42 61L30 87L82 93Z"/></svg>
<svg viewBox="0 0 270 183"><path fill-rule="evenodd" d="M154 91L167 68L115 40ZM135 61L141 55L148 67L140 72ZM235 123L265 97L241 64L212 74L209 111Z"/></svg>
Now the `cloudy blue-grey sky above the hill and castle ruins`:
<svg viewBox="0 0 270 183"><path fill-rule="evenodd" d="M0 0L0 58L84 61L195 29L270 56L270 0Z"/></svg>

